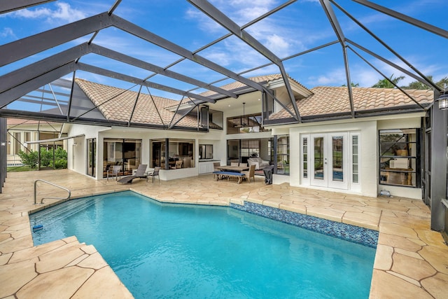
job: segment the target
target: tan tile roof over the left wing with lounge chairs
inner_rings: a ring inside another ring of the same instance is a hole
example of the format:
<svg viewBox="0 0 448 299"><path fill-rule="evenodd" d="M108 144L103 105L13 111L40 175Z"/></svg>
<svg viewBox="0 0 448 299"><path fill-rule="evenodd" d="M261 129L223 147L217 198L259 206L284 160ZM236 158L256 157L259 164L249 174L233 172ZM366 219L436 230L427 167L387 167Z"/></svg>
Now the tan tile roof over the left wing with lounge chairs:
<svg viewBox="0 0 448 299"><path fill-rule="evenodd" d="M129 121L134 109L137 92L123 90L108 85L92 83L83 79L76 79L76 83L85 92L93 104L98 106L104 117L108 120ZM165 107L179 104L179 101L156 97L141 93L137 106L132 115L132 123L142 123L148 125L169 125L174 113ZM157 106L157 109L156 109ZM160 115L159 115L160 114ZM180 118L174 118L173 123ZM186 116L176 126L197 127L197 118Z"/></svg>

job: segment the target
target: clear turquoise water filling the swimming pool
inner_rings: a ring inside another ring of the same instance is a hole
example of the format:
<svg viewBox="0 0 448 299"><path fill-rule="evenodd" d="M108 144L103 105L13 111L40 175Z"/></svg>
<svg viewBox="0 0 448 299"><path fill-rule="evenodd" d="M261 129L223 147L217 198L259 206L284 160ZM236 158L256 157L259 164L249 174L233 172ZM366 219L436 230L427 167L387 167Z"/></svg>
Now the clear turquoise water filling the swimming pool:
<svg viewBox="0 0 448 299"><path fill-rule="evenodd" d="M130 191L30 215L34 244L93 244L135 298L368 298L375 249L230 207Z"/></svg>

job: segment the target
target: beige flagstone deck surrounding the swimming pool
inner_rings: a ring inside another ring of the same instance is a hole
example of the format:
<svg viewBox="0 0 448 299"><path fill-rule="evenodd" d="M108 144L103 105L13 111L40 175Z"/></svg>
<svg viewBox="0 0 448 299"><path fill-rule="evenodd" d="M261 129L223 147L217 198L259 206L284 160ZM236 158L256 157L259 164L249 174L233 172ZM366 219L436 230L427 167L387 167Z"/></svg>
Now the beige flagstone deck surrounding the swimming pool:
<svg viewBox="0 0 448 299"><path fill-rule="evenodd" d="M421 200L265 185L260 176L241 184L207 174L160 183L135 179L130 185L67 169L8 173L0 194L0 298L132 298L92 244L73 236L33 246L29 211L59 202L34 205L35 179L68 188L72 198L134 190L160 202L227 206L248 201L379 230L370 298L447 298L448 246L430 230L430 211ZM48 195L66 196L44 183L37 190L38 202Z"/></svg>

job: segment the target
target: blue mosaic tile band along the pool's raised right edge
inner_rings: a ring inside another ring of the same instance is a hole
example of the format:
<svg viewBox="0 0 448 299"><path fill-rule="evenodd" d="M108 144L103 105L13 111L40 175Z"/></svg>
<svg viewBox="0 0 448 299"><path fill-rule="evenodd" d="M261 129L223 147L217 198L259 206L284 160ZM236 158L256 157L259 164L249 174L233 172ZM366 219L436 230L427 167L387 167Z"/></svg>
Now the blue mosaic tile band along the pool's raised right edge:
<svg viewBox="0 0 448 299"><path fill-rule="evenodd" d="M355 225L330 221L323 218L286 211L262 204L244 201L244 205L230 203L230 207L251 214L271 218L291 225L298 226L324 235L344 239L346 241L361 244L376 249L379 232L368 228L360 228Z"/></svg>

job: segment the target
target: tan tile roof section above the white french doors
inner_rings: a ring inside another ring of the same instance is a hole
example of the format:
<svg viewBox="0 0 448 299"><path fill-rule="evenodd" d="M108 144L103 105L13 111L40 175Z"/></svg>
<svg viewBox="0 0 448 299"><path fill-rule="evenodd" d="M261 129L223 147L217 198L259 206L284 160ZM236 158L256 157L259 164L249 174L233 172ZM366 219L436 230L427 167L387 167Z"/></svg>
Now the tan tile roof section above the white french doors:
<svg viewBox="0 0 448 299"><path fill-rule="evenodd" d="M352 88L353 109L358 112L396 109L415 106L415 102L398 89L392 88ZM419 104L433 102L433 90L405 90ZM325 116L335 113L349 113L349 91L346 87L316 87L313 95L297 100L300 116ZM288 105L292 110L292 104ZM289 118L286 110L272 114L269 119Z"/></svg>

